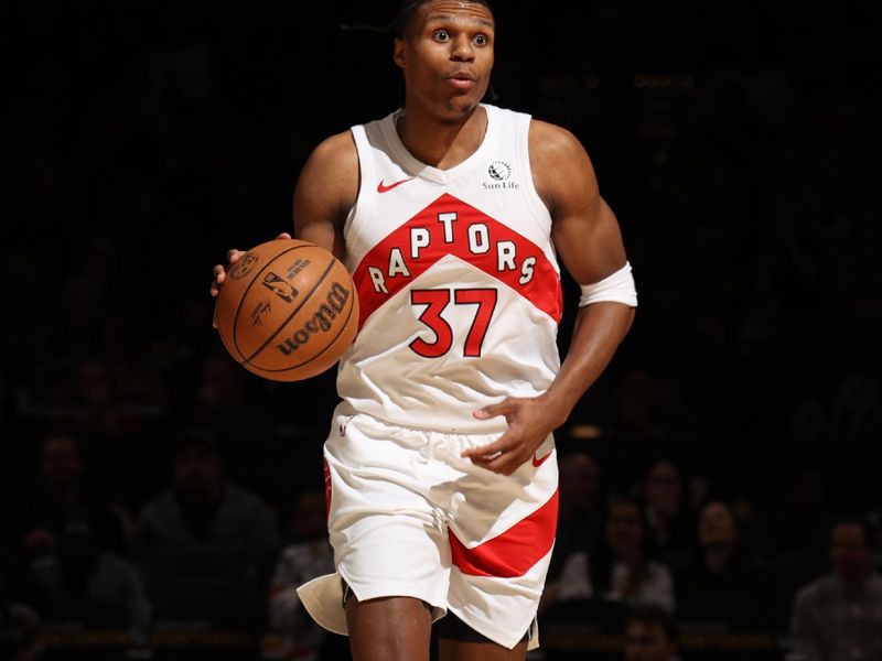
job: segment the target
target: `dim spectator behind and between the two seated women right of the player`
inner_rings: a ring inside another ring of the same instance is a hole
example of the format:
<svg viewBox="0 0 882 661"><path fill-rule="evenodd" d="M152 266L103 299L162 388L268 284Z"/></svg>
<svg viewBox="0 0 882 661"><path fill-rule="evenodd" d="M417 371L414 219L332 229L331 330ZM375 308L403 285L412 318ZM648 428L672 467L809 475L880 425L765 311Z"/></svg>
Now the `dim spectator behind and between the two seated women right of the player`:
<svg viewBox="0 0 882 661"><path fill-rule="evenodd" d="M670 459L650 464L641 485L641 496L659 559L675 571L690 565L695 518L687 505L679 466Z"/></svg>

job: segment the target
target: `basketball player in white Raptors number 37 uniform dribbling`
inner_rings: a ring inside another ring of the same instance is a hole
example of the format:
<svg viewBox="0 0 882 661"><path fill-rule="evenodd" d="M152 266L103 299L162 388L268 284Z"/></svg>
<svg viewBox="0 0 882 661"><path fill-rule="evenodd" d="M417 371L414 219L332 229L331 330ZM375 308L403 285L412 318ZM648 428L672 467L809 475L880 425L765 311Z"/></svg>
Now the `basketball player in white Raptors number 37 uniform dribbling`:
<svg viewBox="0 0 882 661"><path fill-rule="evenodd" d="M295 236L344 260L362 308L324 449L337 571L299 594L358 661L428 660L438 619L443 660L524 659L551 432L627 333L634 281L578 140L481 102L488 3L411 0L395 29L404 108L322 142L294 192ZM562 365L558 257L583 285Z"/></svg>

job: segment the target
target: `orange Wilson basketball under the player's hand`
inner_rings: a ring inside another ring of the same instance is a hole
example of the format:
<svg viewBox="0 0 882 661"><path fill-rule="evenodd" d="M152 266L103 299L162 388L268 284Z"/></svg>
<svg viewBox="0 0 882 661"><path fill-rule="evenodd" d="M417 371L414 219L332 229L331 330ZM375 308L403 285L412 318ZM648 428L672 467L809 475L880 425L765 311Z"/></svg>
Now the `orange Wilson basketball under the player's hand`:
<svg viewBox="0 0 882 661"><path fill-rule="evenodd" d="M332 367L358 329L346 267L297 239L261 243L230 267L215 303L224 346L247 370L300 381Z"/></svg>

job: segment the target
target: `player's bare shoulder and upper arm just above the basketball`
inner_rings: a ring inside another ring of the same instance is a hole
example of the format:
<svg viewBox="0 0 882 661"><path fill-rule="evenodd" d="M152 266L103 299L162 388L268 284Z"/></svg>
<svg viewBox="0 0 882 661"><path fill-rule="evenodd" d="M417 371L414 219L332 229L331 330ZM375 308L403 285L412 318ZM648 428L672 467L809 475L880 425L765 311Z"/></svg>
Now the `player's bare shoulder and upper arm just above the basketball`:
<svg viewBox="0 0 882 661"><path fill-rule="evenodd" d="M294 187L294 236L343 259L343 225L358 196L358 154L352 133L316 147Z"/></svg>

